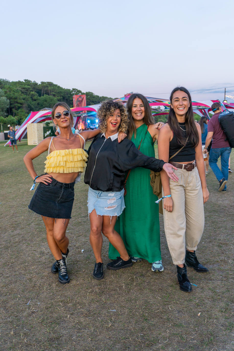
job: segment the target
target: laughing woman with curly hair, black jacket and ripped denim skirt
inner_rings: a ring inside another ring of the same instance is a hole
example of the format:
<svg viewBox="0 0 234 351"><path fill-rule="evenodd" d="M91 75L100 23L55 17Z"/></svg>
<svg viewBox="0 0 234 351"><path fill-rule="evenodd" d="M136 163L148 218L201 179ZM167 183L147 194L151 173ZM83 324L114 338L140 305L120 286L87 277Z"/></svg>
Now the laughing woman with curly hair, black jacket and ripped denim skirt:
<svg viewBox="0 0 234 351"><path fill-rule="evenodd" d="M143 155L129 139L118 142L118 133L125 132L128 127L128 115L122 102L102 102L98 117L101 133L96 135L89 148L84 181L89 185L89 239L96 258L93 277L100 280L104 276L101 257L102 234L120 254L120 257L107 264L107 268L118 270L132 266L123 240L114 229L117 216L120 216L125 208L125 172L135 167L145 167L156 172L163 168L171 179L178 178L172 170L175 167Z"/></svg>

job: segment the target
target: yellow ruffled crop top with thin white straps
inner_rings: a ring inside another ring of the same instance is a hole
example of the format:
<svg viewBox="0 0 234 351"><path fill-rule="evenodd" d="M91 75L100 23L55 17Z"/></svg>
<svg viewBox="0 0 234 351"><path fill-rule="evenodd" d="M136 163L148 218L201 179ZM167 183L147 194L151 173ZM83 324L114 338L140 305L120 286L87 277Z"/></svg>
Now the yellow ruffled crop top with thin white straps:
<svg viewBox="0 0 234 351"><path fill-rule="evenodd" d="M53 137L51 141L53 144ZM54 147L54 144L53 144L53 147ZM81 148L54 150L51 153L49 153L48 156L46 157L46 161L45 161L46 166L45 166L44 172L45 173L83 172L86 167L87 159L88 159L87 152Z"/></svg>

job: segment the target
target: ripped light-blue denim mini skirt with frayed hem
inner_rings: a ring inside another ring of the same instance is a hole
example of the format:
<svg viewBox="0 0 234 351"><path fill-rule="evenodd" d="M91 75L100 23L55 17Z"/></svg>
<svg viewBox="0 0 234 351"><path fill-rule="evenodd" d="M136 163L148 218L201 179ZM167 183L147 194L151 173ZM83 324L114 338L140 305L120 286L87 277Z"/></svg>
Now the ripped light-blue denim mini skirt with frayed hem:
<svg viewBox="0 0 234 351"><path fill-rule="evenodd" d="M93 210L99 216L120 216L125 208L124 189L121 191L99 191L88 188L88 214Z"/></svg>

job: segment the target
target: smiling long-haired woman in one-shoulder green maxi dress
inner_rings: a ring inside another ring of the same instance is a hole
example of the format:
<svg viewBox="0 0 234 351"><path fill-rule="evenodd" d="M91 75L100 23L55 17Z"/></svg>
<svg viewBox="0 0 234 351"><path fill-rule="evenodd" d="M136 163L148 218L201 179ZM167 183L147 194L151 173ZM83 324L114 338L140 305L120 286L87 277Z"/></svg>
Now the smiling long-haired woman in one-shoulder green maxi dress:
<svg viewBox="0 0 234 351"><path fill-rule="evenodd" d="M147 99L141 94L133 94L128 99L127 107L131 140L137 148L141 143L140 151L143 154L155 157L154 142L159 131L153 124ZM155 203L158 197L153 194L149 173L149 170L142 167L131 170L126 183L126 207L116 222L115 230L120 233L134 262L146 259L152 263L152 271L161 272L163 265L160 250L159 205ZM115 259L117 256L118 251L110 244L109 258Z"/></svg>

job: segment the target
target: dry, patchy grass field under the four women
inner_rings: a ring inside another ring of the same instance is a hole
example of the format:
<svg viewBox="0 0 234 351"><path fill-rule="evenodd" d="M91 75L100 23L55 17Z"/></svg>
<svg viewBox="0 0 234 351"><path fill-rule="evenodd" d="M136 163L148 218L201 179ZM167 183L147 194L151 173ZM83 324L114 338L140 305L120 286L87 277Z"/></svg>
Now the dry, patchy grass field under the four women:
<svg viewBox="0 0 234 351"><path fill-rule="evenodd" d="M27 208L32 179L23 157L31 148L24 140L13 155L0 143L0 350L233 351L234 173L228 191L220 193L209 169L210 199L197 250L209 272L188 268L190 282L197 285L191 293L179 289L161 215L162 273L153 273L143 260L125 270L105 269L103 280L93 279L83 181L75 186L67 231L71 282L61 285L51 273L54 259L42 219ZM38 174L45 158L46 153L34 161ZM105 238L103 260L109 261Z"/></svg>

